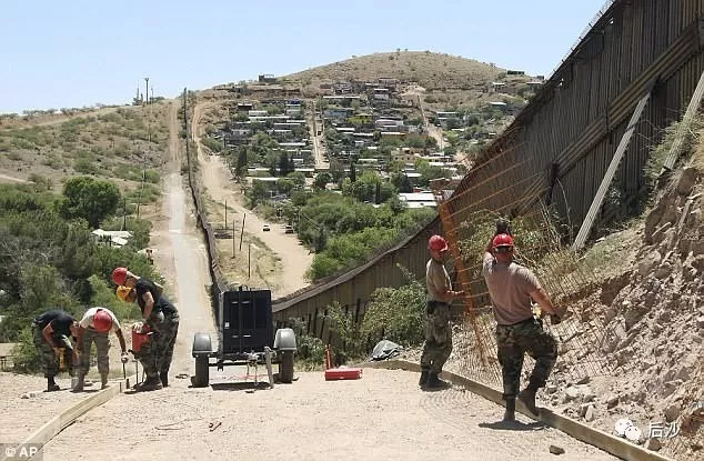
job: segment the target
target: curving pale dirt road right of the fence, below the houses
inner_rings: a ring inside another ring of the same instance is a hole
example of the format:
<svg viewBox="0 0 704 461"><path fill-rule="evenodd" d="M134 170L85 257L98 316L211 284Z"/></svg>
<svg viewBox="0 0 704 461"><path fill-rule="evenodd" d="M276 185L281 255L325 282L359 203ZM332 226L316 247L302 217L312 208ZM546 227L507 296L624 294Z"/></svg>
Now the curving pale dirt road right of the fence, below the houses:
<svg viewBox="0 0 704 461"><path fill-rule="evenodd" d="M244 219L244 232L255 235L281 260L283 270L278 274L278 280L272 290L272 297L279 298L293 293L309 284L304 273L313 261L312 254L303 247L295 234L286 234L281 226L271 226L271 231L264 232L266 222L257 217L251 210L242 206L243 197L239 186L231 180L228 167L219 156L208 156L200 143L202 133L201 118L209 107L208 103L197 104L193 110L193 137L198 147L198 160L201 167L203 186L208 196L219 203L228 202L228 208L237 212L232 220L241 226Z"/></svg>

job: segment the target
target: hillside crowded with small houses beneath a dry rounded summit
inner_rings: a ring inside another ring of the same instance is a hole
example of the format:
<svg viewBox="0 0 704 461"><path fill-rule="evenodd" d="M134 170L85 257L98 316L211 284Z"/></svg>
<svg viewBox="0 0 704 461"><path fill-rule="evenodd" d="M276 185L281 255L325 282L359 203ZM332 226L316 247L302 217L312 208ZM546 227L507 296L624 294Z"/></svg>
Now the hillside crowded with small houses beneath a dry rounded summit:
<svg viewBox="0 0 704 461"><path fill-rule="evenodd" d="M409 206L431 206L429 181L463 174L540 84L450 54L374 53L200 92L218 102L203 141L229 156L235 177L268 184L264 196L285 198L279 179L292 172L335 189L372 169L395 178Z"/></svg>

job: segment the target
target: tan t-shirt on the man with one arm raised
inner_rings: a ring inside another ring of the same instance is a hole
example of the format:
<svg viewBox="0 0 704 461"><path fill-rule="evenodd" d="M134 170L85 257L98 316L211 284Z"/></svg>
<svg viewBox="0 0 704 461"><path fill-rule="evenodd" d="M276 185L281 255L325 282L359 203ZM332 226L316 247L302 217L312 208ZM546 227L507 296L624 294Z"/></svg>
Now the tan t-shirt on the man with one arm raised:
<svg viewBox="0 0 704 461"><path fill-rule="evenodd" d="M491 253L484 253L482 273L494 307L496 323L510 325L533 315L529 293L540 290L541 284L530 269L515 262L501 263Z"/></svg>

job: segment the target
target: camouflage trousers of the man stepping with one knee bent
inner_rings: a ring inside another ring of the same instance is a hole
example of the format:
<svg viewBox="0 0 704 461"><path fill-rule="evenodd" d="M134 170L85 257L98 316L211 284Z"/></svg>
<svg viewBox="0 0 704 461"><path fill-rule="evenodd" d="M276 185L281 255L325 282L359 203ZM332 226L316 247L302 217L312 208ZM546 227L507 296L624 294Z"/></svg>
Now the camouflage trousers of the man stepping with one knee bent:
<svg viewBox="0 0 704 461"><path fill-rule="evenodd" d="M543 330L541 321L533 318L512 325L496 325L499 363L503 374L503 398L514 399L520 391L523 357L527 353L535 360L530 382L543 388L555 360L557 342Z"/></svg>

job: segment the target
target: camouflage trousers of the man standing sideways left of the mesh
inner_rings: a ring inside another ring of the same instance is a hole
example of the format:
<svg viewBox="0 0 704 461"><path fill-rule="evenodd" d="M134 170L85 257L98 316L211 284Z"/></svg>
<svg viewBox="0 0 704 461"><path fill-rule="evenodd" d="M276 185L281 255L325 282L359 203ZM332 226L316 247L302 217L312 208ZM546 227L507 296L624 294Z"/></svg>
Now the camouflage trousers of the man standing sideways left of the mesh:
<svg viewBox="0 0 704 461"><path fill-rule="evenodd" d="M440 373L452 352L452 330L450 328L450 304L428 302L425 343L421 354L421 369Z"/></svg>

